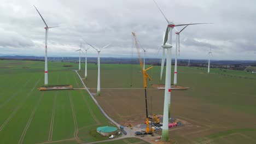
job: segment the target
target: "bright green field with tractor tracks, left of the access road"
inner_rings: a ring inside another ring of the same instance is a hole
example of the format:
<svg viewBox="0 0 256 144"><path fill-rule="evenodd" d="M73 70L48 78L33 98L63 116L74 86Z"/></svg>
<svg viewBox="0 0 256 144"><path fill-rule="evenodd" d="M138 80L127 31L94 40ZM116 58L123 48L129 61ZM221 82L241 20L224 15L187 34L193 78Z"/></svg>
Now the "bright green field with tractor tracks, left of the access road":
<svg viewBox="0 0 256 144"><path fill-rule="evenodd" d="M49 62L49 85L82 87L77 74ZM22 68L30 67L30 68ZM44 62L0 61L0 143L78 143L106 140L96 128L112 125L84 90L39 92Z"/></svg>

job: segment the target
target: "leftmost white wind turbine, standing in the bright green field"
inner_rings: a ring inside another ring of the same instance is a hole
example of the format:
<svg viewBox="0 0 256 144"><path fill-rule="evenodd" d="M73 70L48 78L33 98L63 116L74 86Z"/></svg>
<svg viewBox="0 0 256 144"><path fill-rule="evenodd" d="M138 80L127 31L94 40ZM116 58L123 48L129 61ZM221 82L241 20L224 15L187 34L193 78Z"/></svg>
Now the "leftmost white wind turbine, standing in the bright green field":
<svg viewBox="0 0 256 144"><path fill-rule="evenodd" d="M34 6L34 8L36 8L36 6ZM36 8L37 10L37 8ZM42 15L39 13L39 11L37 10L38 14L40 15L40 17L42 18L42 20L44 21ZM48 65L47 65L47 38L48 38L48 29L49 28L53 28L53 27L48 27L48 25L46 24L46 22L44 21L45 24L45 59L44 59L44 86L48 86ZM58 26L55 26L58 27Z"/></svg>

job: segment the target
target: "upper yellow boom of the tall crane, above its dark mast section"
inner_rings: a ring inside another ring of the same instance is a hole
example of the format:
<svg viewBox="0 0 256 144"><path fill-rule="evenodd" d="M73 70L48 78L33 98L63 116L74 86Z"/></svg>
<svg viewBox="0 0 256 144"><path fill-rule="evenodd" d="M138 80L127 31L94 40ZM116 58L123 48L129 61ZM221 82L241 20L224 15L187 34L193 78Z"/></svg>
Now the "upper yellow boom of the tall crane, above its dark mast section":
<svg viewBox="0 0 256 144"><path fill-rule="evenodd" d="M136 50L137 50L137 53L138 53L138 58L139 58L139 64L141 65L141 70L143 71L143 80L144 80L144 88L147 88L147 78L149 79L149 81L151 80L150 76L148 75L147 73L147 70L153 68L152 67L149 67L147 69L143 69L143 63L142 63L142 59L141 59L141 53L139 52L139 45L138 45L138 40L137 40L137 37L136 37L136 34L134 32L132 32L132 35L135 39L135 45L136 45Z"/></svg>

